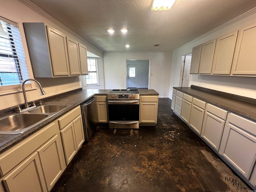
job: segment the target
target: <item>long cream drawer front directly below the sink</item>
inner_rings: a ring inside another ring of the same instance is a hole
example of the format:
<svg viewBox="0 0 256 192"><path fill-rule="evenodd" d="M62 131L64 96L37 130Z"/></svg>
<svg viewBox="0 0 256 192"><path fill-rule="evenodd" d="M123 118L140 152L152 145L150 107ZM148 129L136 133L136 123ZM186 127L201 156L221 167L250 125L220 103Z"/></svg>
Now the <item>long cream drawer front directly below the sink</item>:
<svg viewBox="0 0 256 192"><path fill-rule="evenodd" d="M58 131L58 124L57 122L54 122L1 154L1 175L3 176L8 173L12 168L42 146L48 139L55 134L58 134Z"/></svg>

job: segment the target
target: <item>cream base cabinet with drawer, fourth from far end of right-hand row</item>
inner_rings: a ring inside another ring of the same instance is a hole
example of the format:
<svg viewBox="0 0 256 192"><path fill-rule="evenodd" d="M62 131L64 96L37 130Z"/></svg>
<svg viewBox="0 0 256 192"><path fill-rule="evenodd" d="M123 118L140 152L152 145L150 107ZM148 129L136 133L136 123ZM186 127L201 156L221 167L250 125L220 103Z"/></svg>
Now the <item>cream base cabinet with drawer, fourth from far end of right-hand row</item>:
<svg viewBox="0 0 256 192"><path fill-rule="evenodd" d="M198 134L201 134L202 131L205 106L206 102L197 98L193 98L190 111L189 126Z"/></svg>

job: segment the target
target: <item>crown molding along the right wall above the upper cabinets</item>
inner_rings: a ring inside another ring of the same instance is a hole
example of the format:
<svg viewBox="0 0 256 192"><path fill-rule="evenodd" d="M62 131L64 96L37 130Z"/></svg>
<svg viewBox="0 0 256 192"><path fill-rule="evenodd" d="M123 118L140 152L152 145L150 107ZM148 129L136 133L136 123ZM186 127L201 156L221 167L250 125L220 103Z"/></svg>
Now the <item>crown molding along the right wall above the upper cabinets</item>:
<svg viewBox="0 0 256 192"><path fill-rule="evenodd" d="M240 20L242 20L244 18L247 18L248 16L250 16L250 15L252 15L254 13L256 13L256 7L252 8L251 10L248 10L247 12L244 12L243 14L237 16L236 18L234 18L232 20L229 20L228 22L226 22L226 23L224 23L224 24L214 28L213 30L210 30L209 32L207 32L207 33L205 33L205 34L203 34L203 35L193 39L192 41L190 41L190 42L180 46L179 48L176 48L175 50L180 50L180 49L188 46L189 44L192 44L192 43L196 42L197 40L200 40L200 39L202 39L202 38L204 38L204 37L206 37L206 36L208 36L210 34L213 34L214 32L217 32L218 30L221 30L221 29L223 29L223 28L225 28L225 27L227 27L227 26L229 26L229 25L231 25L231 24L233 24L235 22L238 22L238 21L240 21Z"/></svg>

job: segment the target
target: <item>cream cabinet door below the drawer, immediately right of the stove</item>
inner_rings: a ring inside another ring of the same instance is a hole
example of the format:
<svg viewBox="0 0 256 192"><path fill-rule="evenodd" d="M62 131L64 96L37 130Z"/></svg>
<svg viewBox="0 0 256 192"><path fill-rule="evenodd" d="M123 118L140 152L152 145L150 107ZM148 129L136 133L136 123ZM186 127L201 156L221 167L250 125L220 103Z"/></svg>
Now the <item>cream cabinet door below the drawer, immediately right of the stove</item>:
<svg viewBox="0 0 256 192"><path fill-rule="evenodd" d="M157 102L140 103L140 123L156 123L157 110Z"/></svg>

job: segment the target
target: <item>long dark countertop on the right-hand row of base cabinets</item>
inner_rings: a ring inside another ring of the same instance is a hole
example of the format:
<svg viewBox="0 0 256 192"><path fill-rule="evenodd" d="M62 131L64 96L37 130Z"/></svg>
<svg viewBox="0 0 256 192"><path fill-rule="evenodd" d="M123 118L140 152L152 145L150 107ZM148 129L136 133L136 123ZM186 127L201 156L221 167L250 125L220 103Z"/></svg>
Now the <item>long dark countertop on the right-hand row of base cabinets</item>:
<svg viewBox="0 0 256 192"><path fill-rule="evenodd" d="M256 121L256 100L198 86L174 87L193 97Z"/></svg>

